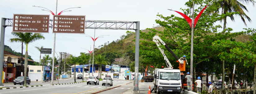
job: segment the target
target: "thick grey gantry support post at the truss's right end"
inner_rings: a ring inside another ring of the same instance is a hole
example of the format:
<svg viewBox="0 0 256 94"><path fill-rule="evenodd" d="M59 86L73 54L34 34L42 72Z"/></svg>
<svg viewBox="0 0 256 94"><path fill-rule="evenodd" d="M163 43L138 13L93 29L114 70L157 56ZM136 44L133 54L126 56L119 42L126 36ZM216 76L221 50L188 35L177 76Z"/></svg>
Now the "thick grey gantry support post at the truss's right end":
<svg viewBox="0 0 256 94"><path fill-rule="evenodd" d="M140 92L139 90L139 49L140 49L140 22L136 23L135 38L135 84L132 92Z"/></svg>

